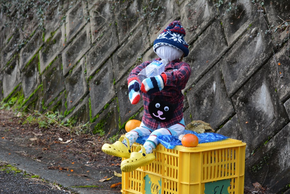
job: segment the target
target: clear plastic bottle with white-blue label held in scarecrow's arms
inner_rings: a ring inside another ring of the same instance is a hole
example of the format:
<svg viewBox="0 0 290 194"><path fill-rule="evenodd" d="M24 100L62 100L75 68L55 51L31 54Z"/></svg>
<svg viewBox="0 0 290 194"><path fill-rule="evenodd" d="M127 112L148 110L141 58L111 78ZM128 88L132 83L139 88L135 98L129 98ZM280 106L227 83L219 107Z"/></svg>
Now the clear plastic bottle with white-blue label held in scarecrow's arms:
<svg viewBox="0 0 290 194"><path fill-rule="evenodd" d="M147 65L144 69L142 69L138 74L140 85L144 79L158 76L161 73L163 73L167 63L168 61L166 59L162 59L160 61L155 60L152 61L149 65Z"/></svg>

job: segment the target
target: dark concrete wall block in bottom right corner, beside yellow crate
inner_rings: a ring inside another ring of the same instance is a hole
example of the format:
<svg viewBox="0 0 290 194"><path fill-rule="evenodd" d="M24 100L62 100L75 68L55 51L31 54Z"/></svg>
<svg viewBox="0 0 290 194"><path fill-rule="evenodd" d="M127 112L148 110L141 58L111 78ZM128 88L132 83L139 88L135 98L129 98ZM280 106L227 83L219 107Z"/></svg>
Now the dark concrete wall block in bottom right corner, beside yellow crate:
<svg viewBox="0 0 290 194"><path fill-rule="evenodd" d="M262 147L246 161L245 185L251 185L257 181L270 188L269 193L284 191L290 178L289 132L290 124L273 138L267 139Z"/></svg>

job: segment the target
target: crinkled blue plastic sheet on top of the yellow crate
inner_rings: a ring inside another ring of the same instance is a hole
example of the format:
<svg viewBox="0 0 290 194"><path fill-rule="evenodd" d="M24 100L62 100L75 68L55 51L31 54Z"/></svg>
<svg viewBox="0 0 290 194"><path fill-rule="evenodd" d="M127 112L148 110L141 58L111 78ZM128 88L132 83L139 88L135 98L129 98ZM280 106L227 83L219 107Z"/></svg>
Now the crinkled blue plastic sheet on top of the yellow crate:
<svg viewBox="0 0 290 194"><path fill-rule="evenodd" d="M209 143L214 141L220 141L224 139L228 139L229 137L223 136L218 133L197 133L194 131L185 130L184 134L192 133L195 134L198 138L198 143ZM136 143L144 144L146 139L149 136L138 137ZM181 146L181 141L178 139L178 136L174 135L160 135L157 136L159 142L167 149L173 149L175 146Z"/></svg>

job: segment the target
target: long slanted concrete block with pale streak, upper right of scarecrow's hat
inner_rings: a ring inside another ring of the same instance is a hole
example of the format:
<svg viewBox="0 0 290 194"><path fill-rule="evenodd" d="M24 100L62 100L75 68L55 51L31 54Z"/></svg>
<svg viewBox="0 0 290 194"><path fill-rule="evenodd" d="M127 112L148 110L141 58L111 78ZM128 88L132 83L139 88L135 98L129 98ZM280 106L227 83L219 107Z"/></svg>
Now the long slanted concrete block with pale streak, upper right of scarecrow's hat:
<svg viewBox="0 0 290 194"><path fill-rule="evenodd" d="M224 55L220 62L226 91L232 96L267 60L273 42L267 24L259 19L251 22L251 27ZM247 56L247 57L246 57Z"/></svg>

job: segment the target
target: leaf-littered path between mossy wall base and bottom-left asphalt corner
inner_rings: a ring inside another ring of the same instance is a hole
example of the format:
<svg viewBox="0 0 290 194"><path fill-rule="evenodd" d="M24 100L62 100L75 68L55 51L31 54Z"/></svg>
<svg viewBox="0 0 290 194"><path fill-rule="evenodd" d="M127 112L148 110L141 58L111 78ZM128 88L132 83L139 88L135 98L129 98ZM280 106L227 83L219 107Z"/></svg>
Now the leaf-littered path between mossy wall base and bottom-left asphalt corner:
<svg viewBox="0 0 290 194"><path fill-rule="evenodd" d="M114 171L122 173L121 158L101 150L108 140L91 134L77 135L57 125L46 129L39 124L27 124L28 116L17 117L11 111L0 110L0 160L58 180L59 184L64 182L73 192L120 193L121 184L110 186L122 182L121 177L114 175ZM113 178L99 182L104 177Z"/></svg>

